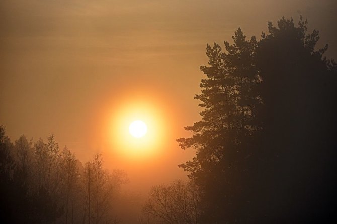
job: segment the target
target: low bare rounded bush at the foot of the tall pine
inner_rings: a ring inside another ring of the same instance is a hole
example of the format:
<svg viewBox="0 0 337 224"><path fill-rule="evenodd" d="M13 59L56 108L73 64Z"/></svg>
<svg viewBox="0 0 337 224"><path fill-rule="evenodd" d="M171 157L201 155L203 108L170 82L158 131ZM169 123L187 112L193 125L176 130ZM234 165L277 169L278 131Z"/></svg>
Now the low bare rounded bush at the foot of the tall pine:
<svg viewBox="0 0 337 224"><path fill-rule="evenodd" d="M169 185L152 187L142 207L143 223L198 223L199 187L193 180L176 180Z"/></svg>

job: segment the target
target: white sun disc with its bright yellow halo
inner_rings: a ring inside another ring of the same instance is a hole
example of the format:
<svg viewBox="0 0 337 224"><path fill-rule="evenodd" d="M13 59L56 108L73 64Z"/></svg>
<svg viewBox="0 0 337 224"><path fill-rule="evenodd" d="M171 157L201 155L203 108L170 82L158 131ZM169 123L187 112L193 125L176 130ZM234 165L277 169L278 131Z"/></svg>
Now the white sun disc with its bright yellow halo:
<svg viewBox="0 0 337 224"><path fill-rule="evenodd" d="M109 124L111 149L124 159L150 158L160 153L167 132L160 109L148 102L114 108Z"/></svg>

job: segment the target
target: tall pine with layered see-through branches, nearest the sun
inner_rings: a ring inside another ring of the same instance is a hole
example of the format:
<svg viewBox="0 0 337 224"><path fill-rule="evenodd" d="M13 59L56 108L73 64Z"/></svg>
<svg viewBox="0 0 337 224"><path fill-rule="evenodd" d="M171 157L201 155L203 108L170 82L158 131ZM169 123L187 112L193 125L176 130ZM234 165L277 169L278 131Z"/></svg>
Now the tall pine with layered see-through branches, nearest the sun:
<svg viewBox="0 0 337 224"><path fill-rule="evenodd" d="M210 66L200 67L207 79L195 96L204 108L202 121L186 127L191 138L178 139L183 149L197 149L193 161L180 167L202 187L201 222L243 219L239 207L247 203L249 157L261 130L261 78L252 63L257 41L254 36L246 40L240 28L232 38L233 45L225 42L227 53L216 43L207 45Z"/></svg>

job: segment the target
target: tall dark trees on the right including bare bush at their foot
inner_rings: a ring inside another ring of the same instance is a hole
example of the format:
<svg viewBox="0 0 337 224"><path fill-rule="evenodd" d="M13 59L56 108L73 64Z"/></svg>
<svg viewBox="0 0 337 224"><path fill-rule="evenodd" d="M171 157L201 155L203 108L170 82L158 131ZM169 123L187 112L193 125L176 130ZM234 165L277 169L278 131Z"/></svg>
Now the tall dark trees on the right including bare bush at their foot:
<svg viewBox="0 0 337 224"><path fill-rule="evenodd" d="M196 217L180 218L189 207L180 200L170 207L175 186L156 186L142 210L148 223L336 220L337 64L323 57L327 45L316 48L318 31L308 34L302 17L297 26L269 22L268 31L247 40L238 28L225 51L207 45L195 96L202 120L185 128L192 137L178 139L196 150L179 165L198 187L188 215Z"/></svg>

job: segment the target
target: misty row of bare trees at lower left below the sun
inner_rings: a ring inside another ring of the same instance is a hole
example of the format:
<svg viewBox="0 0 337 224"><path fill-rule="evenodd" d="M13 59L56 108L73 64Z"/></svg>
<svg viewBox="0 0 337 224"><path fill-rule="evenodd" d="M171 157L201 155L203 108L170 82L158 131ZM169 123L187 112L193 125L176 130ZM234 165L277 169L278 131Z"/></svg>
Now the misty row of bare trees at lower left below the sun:
<svg viewBox="0 0 337 224"><path fill-rule="evenodd" d="M82 165L53 135L14 143L0 127L2 223L116 223L113 199L127 182L122 170L104 170L101 154Z"/></svg>

